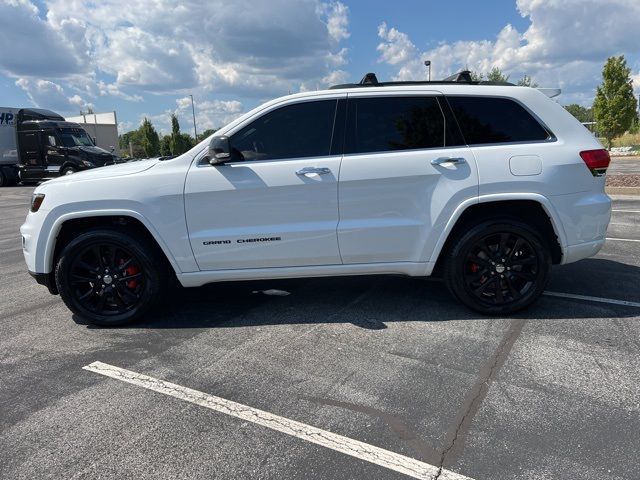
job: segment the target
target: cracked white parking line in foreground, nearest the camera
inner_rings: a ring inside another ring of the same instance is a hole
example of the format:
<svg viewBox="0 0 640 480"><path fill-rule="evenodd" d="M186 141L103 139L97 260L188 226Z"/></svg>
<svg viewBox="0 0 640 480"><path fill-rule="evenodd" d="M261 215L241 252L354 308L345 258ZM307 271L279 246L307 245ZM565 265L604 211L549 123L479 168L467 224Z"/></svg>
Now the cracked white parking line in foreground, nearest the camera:
<svg viewBox="0 0 640 480"><path fill-rule="evenodd" d="M381 467L403 473L413 478L433 479L439 472L438 467L435 465L405 457L404 455L390 452L389 450L384 450L348 437L343 437L342 435L337 435L295 420L289 420L288 418L280 417L265 412L264 410L258 410L247 405L225 400L221 397L209 395L208 393L176 385L175 383L165 382L164 380L132 372L131 370L114 367L113 365L102 362L93 362L82 368L148 390L153 390L154 392L178 398L185 402L191 402L246 422L262 425L263 427L330 448L331 450L380 465ZM470 477L465 477L464 475L446 469L442 469L438 478L439 480L472 480Z"/></svg>

